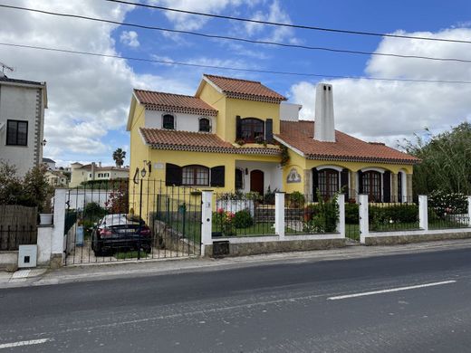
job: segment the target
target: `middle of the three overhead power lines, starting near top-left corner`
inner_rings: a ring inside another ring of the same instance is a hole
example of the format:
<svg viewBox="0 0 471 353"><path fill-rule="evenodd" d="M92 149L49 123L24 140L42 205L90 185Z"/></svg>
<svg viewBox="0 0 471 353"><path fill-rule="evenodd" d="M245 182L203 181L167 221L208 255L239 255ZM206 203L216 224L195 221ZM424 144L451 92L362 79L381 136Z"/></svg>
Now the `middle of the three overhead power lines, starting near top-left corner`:
<svg viewBox="0 0 471 353"><path fill-rule="evenodd" d="M15 9L15 10L24 10L24 11L40 13L40 14L51 14L54 16L61 16L61 17L79 18L83 20L90 20L90 21L96 21L96 22L107 23L107 24L125 25L129 27L136 27L136 28L141 28L141 29L146 29L146 30L156 30L156 31L169 32L169 33L183 33L183 34L196 35L196 36L205 37L205 38L224 39L224 40L231 40L231 41L244 42L244 43L268 44L268 45L275 45L275 46L281 46L281 47L307 49L307 50L315 50L315 51L323 51L323 52L342 52L342 53L348 53L348 54L389 56L389 57L395 57L395 58L422 59L422 60L431 60L431 61L437 61L437 62L471 63L471 60L457 59L457 58L436 58L436 57L430 57L430 56L405 55L405 54L395 54L395 53L389 53L389 52L351 51L351 50L344 50L344 49L316 47L316 46L301 45L301 44L287 44L287 43L278 43L278 42L270 42L270 41L255 41L252 39L231 37L231 36L226 36L226 35L197 33L197 32L192 32L192 31L183 31L183 30L169 29L169 28L163 28L163 27L155 27L155 26L149 26L149 25L144 25L144 24L130 24L130 23L125 23L125 22L105 20L105 19L96 18L96 17L83 16L79 14L61 14L61 13L55 13L51 11L38 10L38 9L33 9L33 8L28 8L28 7L21 7L21 6L0 5L0 7L5 7L9 9Z"/></svg>

